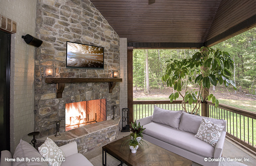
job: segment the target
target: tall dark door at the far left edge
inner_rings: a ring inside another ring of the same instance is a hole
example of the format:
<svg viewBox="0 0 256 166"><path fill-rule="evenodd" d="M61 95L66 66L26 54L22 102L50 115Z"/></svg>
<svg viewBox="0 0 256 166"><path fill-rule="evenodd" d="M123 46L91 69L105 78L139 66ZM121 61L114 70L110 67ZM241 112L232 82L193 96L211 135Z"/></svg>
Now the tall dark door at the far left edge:
<svg viewBox="0 0 256 166"><path fill-rule="evenodd" d="M0 151L10 150L10 41L0 31Z"/></svg>

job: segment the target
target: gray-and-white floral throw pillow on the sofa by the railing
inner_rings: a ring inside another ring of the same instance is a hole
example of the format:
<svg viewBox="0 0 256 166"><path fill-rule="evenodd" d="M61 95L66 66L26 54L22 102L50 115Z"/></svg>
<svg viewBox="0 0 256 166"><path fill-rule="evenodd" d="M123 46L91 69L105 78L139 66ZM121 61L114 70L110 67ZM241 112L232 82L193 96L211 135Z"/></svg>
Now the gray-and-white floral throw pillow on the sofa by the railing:
<svg viewBox="0 0 256 166"><path fill-rule="evenodd" d="M203 118L195 137L215 147L223 129L223 125L214 124Z"/></svg>

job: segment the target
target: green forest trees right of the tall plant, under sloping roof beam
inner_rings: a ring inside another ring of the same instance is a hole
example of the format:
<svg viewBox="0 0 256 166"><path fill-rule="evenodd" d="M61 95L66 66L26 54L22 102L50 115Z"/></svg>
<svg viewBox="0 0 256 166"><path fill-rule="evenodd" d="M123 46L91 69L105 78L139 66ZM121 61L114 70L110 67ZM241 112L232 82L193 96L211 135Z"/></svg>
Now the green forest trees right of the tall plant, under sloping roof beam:
<svg viewBox="0 0 256 166"><path fill-rule="evenodd" d="M256 94L256 28L213 46L234 57L233 77L245 93Z"/></svg>

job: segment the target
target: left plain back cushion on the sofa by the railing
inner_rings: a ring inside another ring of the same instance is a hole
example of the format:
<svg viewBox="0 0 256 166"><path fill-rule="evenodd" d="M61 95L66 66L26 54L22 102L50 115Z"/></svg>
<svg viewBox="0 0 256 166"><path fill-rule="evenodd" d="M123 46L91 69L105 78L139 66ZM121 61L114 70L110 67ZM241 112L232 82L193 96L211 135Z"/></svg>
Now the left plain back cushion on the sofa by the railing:
<svg viewBox="0 0 256 166"><path fill-rule="evenodd" d="M170 111L155 106L151 120L156 123L166 124L171 127L178 128L181 113L182 111Z"/></svg>

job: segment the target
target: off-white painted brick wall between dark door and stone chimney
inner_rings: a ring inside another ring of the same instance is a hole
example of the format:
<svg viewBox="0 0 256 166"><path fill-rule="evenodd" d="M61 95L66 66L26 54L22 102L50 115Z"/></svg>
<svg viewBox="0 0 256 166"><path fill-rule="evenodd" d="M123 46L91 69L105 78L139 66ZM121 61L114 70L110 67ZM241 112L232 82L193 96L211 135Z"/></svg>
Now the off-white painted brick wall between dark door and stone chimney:
<svg viewBox="0 0 256 166"><path fill-rule="evenodd" d="M0 15L17 26L16 34L11 36L10 139L13 153L21 138L31 141L32 137L27 134L34 131L35 47L28 45L21 36L35 36L36 1L1 0ZM15 33L12 25L6 28Z"/></svg>

